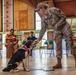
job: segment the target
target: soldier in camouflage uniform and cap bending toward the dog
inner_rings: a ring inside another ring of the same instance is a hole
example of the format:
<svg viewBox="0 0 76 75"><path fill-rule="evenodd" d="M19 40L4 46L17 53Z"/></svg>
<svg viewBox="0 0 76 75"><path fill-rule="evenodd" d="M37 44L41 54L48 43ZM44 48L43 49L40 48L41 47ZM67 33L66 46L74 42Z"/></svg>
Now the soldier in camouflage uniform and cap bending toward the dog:
<svg viewBox="0 0 76 75"><path fill-rule="evenodd" d="M54 40L56 42L56 47L57 47L56 48L57 64L53 66L53 68L55 69L62 68L61 58L62 58L63 36L65 37L71 49L71 53L74 55L74 58L76 55L76 52L75 52L76 48L73 45L73 39L72 39L73 33L70 25L66 21L66 16L60 9L56 7L48 8L48 5L43 3L39 3L35 11L41 17L41 30L39 33L39 38L37 39L37 43L42 39L47 29L47 26L51 25L51 27L54 30Z"/></svg>

